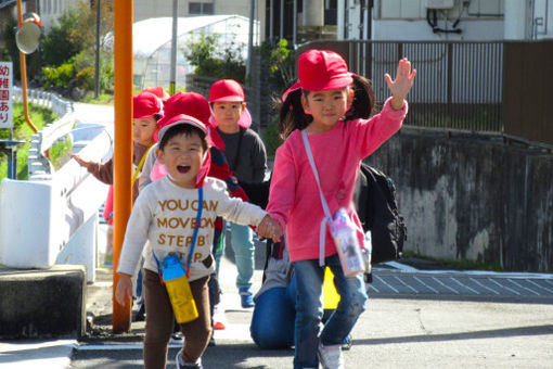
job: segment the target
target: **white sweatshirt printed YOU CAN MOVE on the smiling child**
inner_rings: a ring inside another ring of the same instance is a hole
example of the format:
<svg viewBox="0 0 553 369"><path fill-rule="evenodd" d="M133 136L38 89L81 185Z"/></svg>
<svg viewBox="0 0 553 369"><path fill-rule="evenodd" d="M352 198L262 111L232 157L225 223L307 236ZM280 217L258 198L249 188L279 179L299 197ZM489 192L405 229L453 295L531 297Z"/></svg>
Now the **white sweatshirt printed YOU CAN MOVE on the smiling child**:
<svg viewBox="0 0 553 369"><path fill-rule="evenodd" d="M230 198L227 184L219 179L206 177L203 191L201 227L190 265L191 281L215 272L210 254L216 217L221 216L239 225L258 226L267 214L257 205ZM150 240L150 245L144 253L144 268L157 272L151 249L159 263L169 253L175 253L185 267L196 222L197 196L197 189L179 187L168 177L146 186L132 207L117 271L134 272L146 240Z"/></svg>

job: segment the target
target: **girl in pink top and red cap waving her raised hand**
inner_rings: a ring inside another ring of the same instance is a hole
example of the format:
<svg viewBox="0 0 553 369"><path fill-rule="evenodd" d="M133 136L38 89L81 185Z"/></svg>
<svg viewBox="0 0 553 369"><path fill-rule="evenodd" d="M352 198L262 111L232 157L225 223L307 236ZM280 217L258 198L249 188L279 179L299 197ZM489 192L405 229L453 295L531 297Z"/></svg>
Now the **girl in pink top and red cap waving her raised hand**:
<svg viewBox="0 0 553 369"><path fill-rule="evenodd" d="M276 150L267 206L286 231L296 277L296 369L318 368L319 362L324 368L344 368L340 344L365 309L366 292L362 275L344 276L321 196L331 214L345 207L360 225L352 207L360 162L401 127L407 113L404 98L415 74L407 59L400 60L396 79L385 76L391 98L380 114L368 119L374 106L371 84L349 73L340 55L309 50L298 60L299 81L285 93L281 107L279 130L286 141ZM362 232L359 240L362 244ZM324 265L334 273L340 301L321 327Z"/></svg>

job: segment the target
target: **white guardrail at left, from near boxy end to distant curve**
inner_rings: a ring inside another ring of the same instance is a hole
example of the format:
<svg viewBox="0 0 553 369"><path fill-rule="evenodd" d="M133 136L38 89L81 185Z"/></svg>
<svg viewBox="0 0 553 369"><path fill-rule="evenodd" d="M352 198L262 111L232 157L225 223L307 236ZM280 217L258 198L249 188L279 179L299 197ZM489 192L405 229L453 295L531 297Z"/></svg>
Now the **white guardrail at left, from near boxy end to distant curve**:
<svg viewBox="0 0 553 369"><path fill-rule="evenodd" d="M98 208L105 200L107 186L74 160L54 171L44 152L70 133L72 141L77 141L74 153L78 151L87 160L103 162L112 153L111 137L101 135L108 133L108 127L78 124L72 130L75 119L70 102L36 91L29 91L29 100L53 109L62 117L33 136L35 153L29 150L29 180L2 180L0 264L12 268L82 264L87 280L92 282ZM42 168L38 168L40 165Z"/></svg>

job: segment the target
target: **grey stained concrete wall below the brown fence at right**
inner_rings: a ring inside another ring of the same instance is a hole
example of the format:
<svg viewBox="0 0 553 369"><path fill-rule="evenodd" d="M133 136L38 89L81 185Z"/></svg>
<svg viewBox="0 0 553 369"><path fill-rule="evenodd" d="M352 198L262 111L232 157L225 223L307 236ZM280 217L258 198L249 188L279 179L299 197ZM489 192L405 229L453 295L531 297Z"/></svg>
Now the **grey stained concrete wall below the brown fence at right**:
<svg viewBox="0 0 553 369"><path fill-rule="evenodd" d="M406 127L366 162L396 182L406 250L553 270L551 153Z"/></svg>

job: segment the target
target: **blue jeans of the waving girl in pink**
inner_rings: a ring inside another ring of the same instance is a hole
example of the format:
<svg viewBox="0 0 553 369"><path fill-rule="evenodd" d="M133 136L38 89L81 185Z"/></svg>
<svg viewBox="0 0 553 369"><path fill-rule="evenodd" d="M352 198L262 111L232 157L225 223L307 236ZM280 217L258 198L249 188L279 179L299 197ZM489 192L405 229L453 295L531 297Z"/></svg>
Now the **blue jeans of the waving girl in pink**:
<svg viewBox="0 0 553 369"><path fill-rule="evenodd" d="M323 316L322 284L324 267L318 259L294 262L297 283L294 368L319 366L317 351L323 345L339 345L353 329L366 308L363 276L346 278L338 255L325 258L334 273L334 284L340 296L338 307L321 330Z"/></svg>

